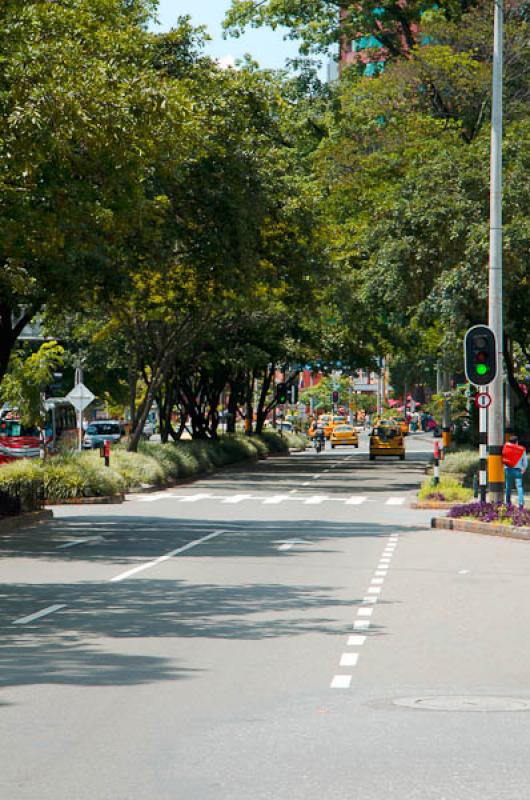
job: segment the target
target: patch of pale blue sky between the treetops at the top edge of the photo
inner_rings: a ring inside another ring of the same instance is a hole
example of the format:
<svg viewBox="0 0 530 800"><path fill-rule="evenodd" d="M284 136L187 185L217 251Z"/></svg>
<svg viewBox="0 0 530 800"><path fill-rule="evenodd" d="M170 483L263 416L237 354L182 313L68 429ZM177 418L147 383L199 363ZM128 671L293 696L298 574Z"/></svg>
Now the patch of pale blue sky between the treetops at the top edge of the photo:
<svg viewBox="0 0 530 800"><path fill-rule="evenodd" d="M189 14L195 25L206 25L212 41L207 52L214 58L231 61L245 53L265 68L285 65L286 58L297 55L297 45L284 41L281 31L248 29L239 39L223 39L221 21L230 6L230 0L159 0L160 29L168 30L179 16Z"/></svg>

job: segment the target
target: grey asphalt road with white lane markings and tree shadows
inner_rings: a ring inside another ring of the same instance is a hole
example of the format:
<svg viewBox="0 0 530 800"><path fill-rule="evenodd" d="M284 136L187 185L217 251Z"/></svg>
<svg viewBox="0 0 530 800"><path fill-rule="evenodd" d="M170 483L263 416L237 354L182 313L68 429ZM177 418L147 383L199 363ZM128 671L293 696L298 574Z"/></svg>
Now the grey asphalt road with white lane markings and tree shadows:
<svg viewBox="0 0 530 800"><path fill-rule="evenodd" d="M4 535L6 800L530 797L530 549L410 509L432 438Z"/></svg>

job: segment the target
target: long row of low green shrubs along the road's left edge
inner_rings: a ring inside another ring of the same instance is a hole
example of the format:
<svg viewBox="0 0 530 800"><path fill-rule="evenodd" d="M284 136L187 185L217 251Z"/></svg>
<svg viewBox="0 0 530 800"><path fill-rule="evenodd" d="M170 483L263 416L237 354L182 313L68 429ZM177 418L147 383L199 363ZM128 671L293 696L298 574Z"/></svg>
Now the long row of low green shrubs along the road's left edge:
<svg viewBox="0 0 530 800"><path fill-rule="evenodd" d="M293 434L268 431L262 436L222 436L217 441L181 441L175 444L143 442L138 453L122 447L111 450L110 467L98 451L66 453L45 462L24 459L0 467L0 491L30 496L42 485L44 497L54 502L76 497L118 495L133 487L163 486L168 481L213 472L227 464L265 458L268 453L304 447Z"/></svg>

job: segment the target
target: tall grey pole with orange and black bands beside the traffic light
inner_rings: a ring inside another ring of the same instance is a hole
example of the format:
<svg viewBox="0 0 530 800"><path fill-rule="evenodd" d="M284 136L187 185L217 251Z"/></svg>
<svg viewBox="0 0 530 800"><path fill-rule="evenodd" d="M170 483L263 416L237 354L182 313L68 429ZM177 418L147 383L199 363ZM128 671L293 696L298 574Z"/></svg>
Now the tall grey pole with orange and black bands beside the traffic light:
<svg viewBox="0 0 530 800"><path fill-rule="evenodd" d="M502 502L504 471L503 319L502 319L502 72L503 0L494 0L493 77L490 155L489 327L497 338L497 375L490 384L488 419L488 490L491 502Z"/></svg>

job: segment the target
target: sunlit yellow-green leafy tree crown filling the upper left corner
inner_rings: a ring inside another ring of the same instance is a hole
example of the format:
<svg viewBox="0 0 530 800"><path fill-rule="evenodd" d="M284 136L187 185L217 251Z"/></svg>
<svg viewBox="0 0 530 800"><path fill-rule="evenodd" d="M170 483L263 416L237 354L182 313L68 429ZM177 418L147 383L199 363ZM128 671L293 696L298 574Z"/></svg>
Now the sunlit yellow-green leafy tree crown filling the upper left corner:
<svg viewBox="0 0 530 800"><path fill-rule="evenodd" d="M146 58L153 3L8 2L0 11L0 381L32 316L119 296L131 227L154 224L150 156L189 122ZM189 131L189 126L187 128Z"/></svg>

